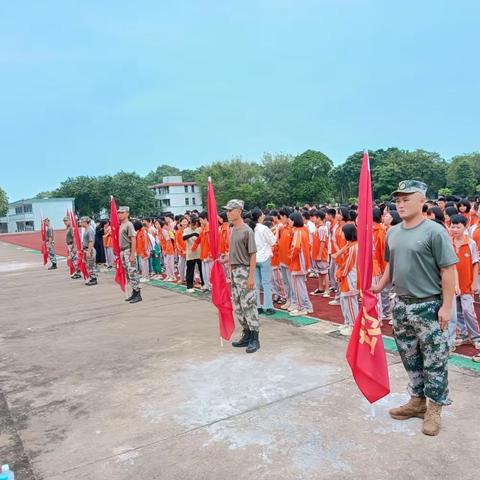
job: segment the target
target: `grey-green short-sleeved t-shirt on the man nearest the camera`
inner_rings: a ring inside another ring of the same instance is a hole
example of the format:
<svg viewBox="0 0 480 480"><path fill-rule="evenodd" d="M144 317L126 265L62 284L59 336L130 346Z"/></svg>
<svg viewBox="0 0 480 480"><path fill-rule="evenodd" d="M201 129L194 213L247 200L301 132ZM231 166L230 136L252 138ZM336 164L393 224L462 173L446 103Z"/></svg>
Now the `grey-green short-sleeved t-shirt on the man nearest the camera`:
<svg viewBox="0 0 480 480"><path fill-rule="evenodd" d="M391 228L385 260L390 264L395 293L416 298L440 295L440 269L458 262L446 229L433 220L424 220L413 228L405 228L402 223Z"/></svg>

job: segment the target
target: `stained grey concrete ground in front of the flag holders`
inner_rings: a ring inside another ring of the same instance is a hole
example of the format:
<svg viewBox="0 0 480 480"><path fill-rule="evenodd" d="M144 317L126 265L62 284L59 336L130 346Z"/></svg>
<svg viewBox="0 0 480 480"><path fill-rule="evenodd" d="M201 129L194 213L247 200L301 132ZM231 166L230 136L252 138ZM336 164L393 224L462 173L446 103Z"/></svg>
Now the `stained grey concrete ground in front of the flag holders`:
<svg viewBox="0 0 480 480"><path fill-rule="evenodd" d="M18 480L478 478L480 378L450 370L444 428L374 409L331 325L264 320L253 355L220 346L206 301L157 287L123 301L0 243L0 460Z"/></svg>

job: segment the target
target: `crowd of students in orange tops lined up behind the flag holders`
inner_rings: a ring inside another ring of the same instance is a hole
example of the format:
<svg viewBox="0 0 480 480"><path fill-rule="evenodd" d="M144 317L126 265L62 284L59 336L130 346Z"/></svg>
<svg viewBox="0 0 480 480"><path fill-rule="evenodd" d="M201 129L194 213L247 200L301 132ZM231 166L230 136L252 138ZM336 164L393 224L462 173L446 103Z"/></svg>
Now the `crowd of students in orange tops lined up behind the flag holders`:
<svg viewBox="0 0 480 480"><path fill-rule="evenodd" d="M310 297L322 296L330 305L340 306L342 335L350 335L361 302L357 270L357 207L310 206L279 210L244 211L244 220L253 229L257 247L255 268L259 313L272 315L274 303L291 316L313 313ZM451 351L472 343L480 349L480 332L474 310L478 290L480 247L480 207L477 202L427 201L425 219L441 224L449 233L458 256L456 302L448 329ZM373 209L373 285L385 271L384 249L387 232L401 223L394 203L376 202ZM184 215L165 214L160 218L132 219L136 231L137 267L141 282L161 279L208 292L213 259L209 229L218 228L220 255L229 252L230 225L221 212L217 225L209 225L206 212ZM97 222L95 247L97 263L114 267L111 227ZM100 242L100 244L99 244ZM102 245L103 244L103 245ZM227 281L228 263L224 265ZM307 289L307 278L317 279L316 288ZM379 317L392 324L391 289L378 295ZM480 361L479 354L473 357Z"/></svg>

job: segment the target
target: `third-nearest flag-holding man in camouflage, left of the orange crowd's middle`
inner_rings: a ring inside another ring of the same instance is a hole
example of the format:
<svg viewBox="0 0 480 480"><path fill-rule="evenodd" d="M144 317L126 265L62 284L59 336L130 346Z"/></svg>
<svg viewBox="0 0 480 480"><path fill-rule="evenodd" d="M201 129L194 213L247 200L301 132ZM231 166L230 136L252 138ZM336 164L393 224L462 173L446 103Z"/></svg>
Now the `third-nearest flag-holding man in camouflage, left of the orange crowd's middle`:
<svg viewBox="0 0 480 480"><path fill-rule="evenodd" d="M137 303L142 301L142 296L140 294L140 276L137 271L136 232L129 220L130 208L118 207L117 211L120 220L120 259L127 275L128 284L132 288L132 294L125 301Z"/></svg>

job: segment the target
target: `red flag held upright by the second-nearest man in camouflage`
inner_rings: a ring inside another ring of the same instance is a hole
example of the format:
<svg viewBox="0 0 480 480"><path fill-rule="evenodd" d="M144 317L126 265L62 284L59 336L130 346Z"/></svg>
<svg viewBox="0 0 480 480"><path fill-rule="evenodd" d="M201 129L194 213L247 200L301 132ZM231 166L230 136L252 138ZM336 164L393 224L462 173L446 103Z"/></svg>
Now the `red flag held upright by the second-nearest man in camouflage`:
<svg viewBox="0 0 480 480"><path fill-rule="evenodd" d="M213 191L213 183L210 177L208 178L208 223L210 224L208 234L213 258L210 277L210 283L212 284L212 303L218 308L220 336L225 340L230 340L235 330L235 322L233 320L232 301L230 299L230 290L227 287L225 270L223 269L223 265L218 261L217 202L215 201L215 192Z"/></svg>

